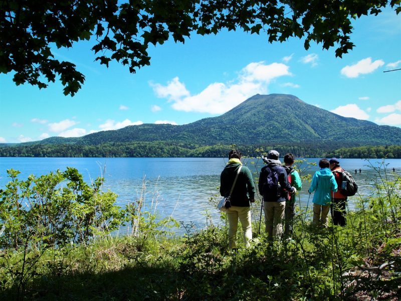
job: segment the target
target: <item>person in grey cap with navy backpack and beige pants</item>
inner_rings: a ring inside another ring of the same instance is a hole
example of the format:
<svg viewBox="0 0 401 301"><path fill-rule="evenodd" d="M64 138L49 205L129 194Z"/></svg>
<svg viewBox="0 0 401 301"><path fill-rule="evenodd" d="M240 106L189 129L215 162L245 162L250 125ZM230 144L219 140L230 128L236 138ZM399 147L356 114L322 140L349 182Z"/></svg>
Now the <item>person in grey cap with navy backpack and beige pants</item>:
<svg viewBox="0 0 401 301"><path fill-rule="evenodd" d="M287 172L279 161L277 150L270 150L263 161L264 166L259 175L259 193L263 195L263 210L265 212L265 231L270 238L283 234L283 219L287 192L296 193L297 189L288 183ZM268 177L275 173L278 176L278 186L274 195L267 189Z"/></svg>

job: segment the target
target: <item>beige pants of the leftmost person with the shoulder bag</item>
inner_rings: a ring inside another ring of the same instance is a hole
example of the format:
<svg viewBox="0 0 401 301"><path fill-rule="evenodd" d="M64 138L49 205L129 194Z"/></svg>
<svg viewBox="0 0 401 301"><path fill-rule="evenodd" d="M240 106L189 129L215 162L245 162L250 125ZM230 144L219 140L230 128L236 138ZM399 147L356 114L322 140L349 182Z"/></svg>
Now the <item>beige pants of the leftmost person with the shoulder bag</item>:
<svg viewBox="0 0 401 301"><path fill-rule="evenodd" d="M229 242L230 248L237 247L235 237L237 235L238 219L240 219L241 227L244 232L244 243L246 247L250 246L252 240L252 222L250 207L231 206L227 211L227 219L229 221Z"/></svg>

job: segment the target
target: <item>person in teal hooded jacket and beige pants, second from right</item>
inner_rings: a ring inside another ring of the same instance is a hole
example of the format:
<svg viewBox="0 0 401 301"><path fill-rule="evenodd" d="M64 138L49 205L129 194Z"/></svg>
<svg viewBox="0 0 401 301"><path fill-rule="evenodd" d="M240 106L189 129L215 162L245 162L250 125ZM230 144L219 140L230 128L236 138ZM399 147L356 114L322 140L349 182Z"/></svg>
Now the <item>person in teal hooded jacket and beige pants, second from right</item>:
<svg viewBox="0 0 401 301"><path fill-rule="evenodd" d="M337 191L337 183L334 175L329 169L330 163L327 159L319 161L320 170L312 178L312 183L308 189L309 193L315 191L313 195L313 224L327 227L327 215L331 204L331 191Z"/></svg>

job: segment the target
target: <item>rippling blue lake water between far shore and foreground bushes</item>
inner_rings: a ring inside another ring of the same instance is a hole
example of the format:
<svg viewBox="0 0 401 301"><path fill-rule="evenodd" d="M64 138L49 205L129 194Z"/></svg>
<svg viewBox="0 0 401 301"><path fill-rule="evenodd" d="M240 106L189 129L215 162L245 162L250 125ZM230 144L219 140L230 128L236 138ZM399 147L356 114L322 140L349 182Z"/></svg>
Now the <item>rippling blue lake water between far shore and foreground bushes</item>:
<svg viewBox="0 0 401 301"><path fill-rule="evenodd" d="M246 158L243 161L255 177L258 177L263 162ZM318 163L319 159L307 161ZM40 176L73 167L78 169L87 182L104 175L104 190L110 189L118 194L117 203L124 207L141 193L145 180L147 191L156 192L154 195L147 195L147 205L150 206L152 199L157 200L156 211L160 217L172 215L177 221L183 221L184 224L193 222L198 228L202 228L207 223L207 214L214 223L221 223L220 213L209 198L219 194L217 187L220 185L220 173L226 162L227 159L222 158L0 158L0 189L9 181L7 169L19 170L19 179L26 180L31 174ZM375 166L380 162L381 160L370 160ZM362 159L341 159L340 163L342 168L354 176L359 194L362 197L368 196L376 177L376 173L367 167L368 162ZM385 163L388 164L390 177L401 174L400 159L388 159ZM392 168L395 168L395 173ZM358 170L356 174L353 172L355 169ZM314 166L307 173L313 175L316 170L318 167ZM308 204L308 188L309 183L303 183L299 197L301 207ZM356 197L349 198L351 209L353 198ZM312 200L309 201L309 206L311 203ZM259 220L260 203L253 207L253 219Z"/></svg>

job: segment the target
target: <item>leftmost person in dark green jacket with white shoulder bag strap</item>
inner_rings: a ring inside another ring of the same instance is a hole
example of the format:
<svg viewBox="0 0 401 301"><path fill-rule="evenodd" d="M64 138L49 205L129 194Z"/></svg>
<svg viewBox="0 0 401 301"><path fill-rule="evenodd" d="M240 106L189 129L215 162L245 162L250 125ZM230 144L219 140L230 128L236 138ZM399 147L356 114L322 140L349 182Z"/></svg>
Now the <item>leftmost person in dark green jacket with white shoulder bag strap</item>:
<svg viewBox="0 0 401 301"><path fill-rule="evenodd" d="M230 195L240 166L242 166L241 152L233 149L229 153L229 162L220 176L220 194L223 197ZM229 243L231 249L237 249L235 237L237 235L238 219L241 222L245 246L250 246L252 240L250 203L255 202L255 192L255 183L251 171L246 166L242 166L231 195L231 207L226 211L229 221Z"/></svg>

